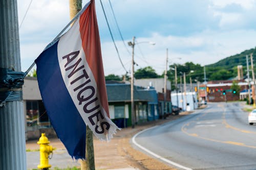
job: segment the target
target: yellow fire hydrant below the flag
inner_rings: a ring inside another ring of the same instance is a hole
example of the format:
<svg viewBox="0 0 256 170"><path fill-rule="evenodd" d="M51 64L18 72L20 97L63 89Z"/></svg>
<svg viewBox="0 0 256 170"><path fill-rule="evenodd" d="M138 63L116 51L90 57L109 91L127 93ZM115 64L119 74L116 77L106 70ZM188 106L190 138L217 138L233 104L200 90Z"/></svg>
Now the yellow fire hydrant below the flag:
<svg viewBox="0 0 256 170"><path fill-rule="evenodd" d="M39 141L37 141L37 144L40 145L40 164L37 165L40 169L48 169L52 165L49 164L49 155L52 153L53 148L52 145L49 145L50 141L46 137L45 133L41 134L41 137L39 138Z"/></svg>

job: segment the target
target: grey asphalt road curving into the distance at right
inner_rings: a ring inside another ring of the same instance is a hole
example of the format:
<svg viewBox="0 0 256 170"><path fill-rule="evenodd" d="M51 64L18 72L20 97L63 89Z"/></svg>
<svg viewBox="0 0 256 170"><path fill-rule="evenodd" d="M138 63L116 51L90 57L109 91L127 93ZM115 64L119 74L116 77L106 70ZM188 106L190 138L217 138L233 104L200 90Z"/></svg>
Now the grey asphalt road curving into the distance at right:
<svg viewBox="0 0 256 170"><path fill-rule="evenodd" d="M147 152L184 166L178 169L256 169L256 125L248 124L241 108L240 103L208 104L134 140Z"/></svg>

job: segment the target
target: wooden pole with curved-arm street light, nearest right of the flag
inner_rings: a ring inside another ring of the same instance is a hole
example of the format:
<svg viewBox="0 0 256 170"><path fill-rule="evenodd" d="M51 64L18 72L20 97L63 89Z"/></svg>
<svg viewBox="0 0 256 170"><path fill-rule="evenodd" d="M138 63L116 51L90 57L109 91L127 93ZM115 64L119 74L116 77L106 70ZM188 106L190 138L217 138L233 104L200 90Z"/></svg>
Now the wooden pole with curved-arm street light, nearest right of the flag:
<svg viewBox="0 0 256 170"><path fill-rule="evenodd" d="M152 45L155 45L156 43L151 42L151 41L142 41L142 42L137 42L136 44L140 43L150 43ZM135 127L135 112L134 112L134 46L135 46L135 37L133 37L133 42L129 41L128 42L129 46L132 46L133 52L132 52L132 71L131 71L131 107L132 107L132 128Z"/></svg>

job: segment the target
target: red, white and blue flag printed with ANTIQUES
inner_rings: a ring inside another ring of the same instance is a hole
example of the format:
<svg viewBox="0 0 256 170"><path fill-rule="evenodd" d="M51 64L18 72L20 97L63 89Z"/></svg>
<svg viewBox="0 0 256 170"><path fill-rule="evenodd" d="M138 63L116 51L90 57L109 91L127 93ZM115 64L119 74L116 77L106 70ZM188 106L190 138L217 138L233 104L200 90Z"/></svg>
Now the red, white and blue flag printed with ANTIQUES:
<svg viewBox="0 0 256 170"><path fill-rule="evenodd" d="M75 159L84 159L86 126L101 140L118 127L109 118L94 1L73 26L35 60L37 80L51 124Z"/></svg>

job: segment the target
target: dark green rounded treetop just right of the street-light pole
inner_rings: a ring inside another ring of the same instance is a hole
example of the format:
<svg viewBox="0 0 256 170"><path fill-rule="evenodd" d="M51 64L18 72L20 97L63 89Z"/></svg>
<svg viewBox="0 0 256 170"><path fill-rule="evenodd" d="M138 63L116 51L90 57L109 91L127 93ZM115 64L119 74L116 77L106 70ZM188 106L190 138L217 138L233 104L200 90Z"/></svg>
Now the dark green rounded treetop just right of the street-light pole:
<svg viewBox="0 0 256 170"><path fill-rule="evenodd" d="M160 76L156 73L156 70L151 66L140 68L135 71L134 77L136 79L147 79L147 78L159 78Z"/></svg>

